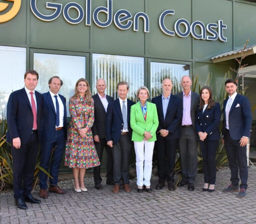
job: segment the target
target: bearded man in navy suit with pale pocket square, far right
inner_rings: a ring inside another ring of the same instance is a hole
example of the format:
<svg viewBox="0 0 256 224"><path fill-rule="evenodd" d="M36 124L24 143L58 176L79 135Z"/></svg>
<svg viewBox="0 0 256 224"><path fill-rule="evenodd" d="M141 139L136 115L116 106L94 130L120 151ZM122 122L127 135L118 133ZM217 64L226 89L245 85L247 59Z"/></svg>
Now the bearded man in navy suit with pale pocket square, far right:
<svg viewBox="0 0 256 224"><path fill-rule="evenodd" d="M226 80L225 88L229 97L223 103L222 142L231 170L231 184L223 192L239 191L239 172L241 184L238 197L244 197L248 179L246 144L252 127L251 105L247 97L236 92L234 80Z"/></svg>

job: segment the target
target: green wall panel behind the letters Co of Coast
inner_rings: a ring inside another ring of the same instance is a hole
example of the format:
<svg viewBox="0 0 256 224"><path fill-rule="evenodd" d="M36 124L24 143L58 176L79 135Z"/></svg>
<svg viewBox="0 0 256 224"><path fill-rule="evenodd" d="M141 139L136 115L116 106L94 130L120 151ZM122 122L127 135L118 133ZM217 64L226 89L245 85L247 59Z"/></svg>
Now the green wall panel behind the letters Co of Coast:
<svg viewBox="0 0 256 224"><path fill-rule="evenodd" d="M191 23L191 0L148 0L147 11L150 19L149 34L147 38L147 53L159 57L173 59L192 59L191 35L181 38L168 36L159 27L159 17L167 9L175 11L174 15L165 17L166 28L174 31L174 24L178 19L184 18ZM181 26L182 27L182 26Z"/></svg>

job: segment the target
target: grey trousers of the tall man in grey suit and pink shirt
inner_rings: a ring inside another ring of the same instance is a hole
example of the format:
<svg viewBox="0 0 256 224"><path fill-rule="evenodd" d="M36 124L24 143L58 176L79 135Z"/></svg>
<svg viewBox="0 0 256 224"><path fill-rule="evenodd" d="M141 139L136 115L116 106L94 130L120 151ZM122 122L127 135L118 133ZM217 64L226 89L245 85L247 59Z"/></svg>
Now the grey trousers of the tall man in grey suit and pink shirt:
<svg viewBox="0 0 256 224"><path fill-rule="evenodd" d="M179 140L182 179L194 183L197 175L198 147L196 132L193 127L182 127Z"/></svg>

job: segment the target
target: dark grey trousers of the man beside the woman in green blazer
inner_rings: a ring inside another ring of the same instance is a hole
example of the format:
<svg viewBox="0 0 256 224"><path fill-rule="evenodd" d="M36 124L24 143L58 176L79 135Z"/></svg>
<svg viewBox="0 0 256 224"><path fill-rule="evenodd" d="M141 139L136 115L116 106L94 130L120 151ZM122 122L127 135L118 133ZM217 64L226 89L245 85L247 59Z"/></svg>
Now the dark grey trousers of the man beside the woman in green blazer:
<svg viewBox="0 0 256 224"><path fill-rule="evenodd" d="M116 185L129 184L129 157L132 142L129 135L121 135L117 144L112 147L114 160L114 183ZM122 181L121 181L122 178Z"/></svg>

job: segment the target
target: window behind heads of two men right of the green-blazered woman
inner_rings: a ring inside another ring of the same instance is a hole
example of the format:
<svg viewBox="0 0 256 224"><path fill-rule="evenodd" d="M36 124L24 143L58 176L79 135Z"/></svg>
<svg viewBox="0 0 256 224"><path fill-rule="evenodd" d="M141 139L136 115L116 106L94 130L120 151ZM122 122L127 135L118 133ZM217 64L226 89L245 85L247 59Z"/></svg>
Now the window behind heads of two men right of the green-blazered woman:
<svg viewBox="0 0 256 224"><path fill-rule="evenodd" d="M179 92L181 77L189 76L189 65L161 62L150 63L151 98L162 94L161 85L164 79L172 80L172 94Z"/></svg>

